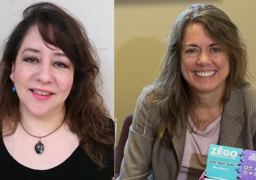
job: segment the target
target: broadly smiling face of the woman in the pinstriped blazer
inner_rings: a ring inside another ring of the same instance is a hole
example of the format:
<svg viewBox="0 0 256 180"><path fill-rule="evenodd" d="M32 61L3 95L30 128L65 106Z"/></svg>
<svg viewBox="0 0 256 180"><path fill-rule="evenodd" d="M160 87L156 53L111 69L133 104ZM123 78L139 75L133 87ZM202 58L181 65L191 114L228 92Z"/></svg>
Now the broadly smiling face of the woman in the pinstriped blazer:
<svg viewBox="0 0 256 180"><path fill-rule="evenodd" d="M222 94L229 67L229 56L200 23L187 28L181 42L181 73L192 92Z"/></svg>

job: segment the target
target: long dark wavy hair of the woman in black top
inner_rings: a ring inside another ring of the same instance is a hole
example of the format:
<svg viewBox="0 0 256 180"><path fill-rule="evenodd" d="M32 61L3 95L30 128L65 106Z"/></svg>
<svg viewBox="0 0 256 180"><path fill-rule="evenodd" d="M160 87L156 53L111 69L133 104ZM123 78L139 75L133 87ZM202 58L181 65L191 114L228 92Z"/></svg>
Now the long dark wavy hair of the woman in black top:
<svg viewBox="0 0 256 180"><path fill-rule="evenodd" d="M9 75L23 38L34 26L43 40L61 49L75 67L73 89L65 100L65 117L71 121L70 129L81 139L80 144L86 153L102 168L106 163L103 146L114 148L114 130L98 92L101 80L96 51L82 24L55 4L40 2L25 9L23 20L5 44L0 62L0 128L4 121L20 118L18 95L11 92L13 84Z"/></svg>

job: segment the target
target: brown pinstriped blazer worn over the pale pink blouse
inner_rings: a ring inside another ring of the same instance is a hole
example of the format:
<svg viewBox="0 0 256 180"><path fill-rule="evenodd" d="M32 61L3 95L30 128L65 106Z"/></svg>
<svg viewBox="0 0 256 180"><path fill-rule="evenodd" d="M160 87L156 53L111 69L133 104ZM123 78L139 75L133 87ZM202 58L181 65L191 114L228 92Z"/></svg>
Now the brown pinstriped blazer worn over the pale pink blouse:
<svg viewBox="0 0 256 180"><path fill-rule="evenodd" d="M174 135L171 149L156 138L160 107L148 103L146 90L140 95L124 148L119 180L176 180L183 158L186 128L178 124L180 137ZM256 87L233 88L221 117L219 144L256 150Z"/></svg>

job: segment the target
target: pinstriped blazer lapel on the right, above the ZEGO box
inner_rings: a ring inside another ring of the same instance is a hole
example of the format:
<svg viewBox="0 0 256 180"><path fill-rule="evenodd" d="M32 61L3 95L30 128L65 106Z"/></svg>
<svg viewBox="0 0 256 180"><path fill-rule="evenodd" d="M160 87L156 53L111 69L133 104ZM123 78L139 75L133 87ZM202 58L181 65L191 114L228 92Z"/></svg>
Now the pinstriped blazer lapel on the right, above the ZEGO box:
<svg viewBox="0 0 256 180"><path fill-rule="evenodd" d="M244 111L242 95L239 89L232 88L229 101L224 106L220 122L220 145L234 147L242 130L240 120Z"/></svg>

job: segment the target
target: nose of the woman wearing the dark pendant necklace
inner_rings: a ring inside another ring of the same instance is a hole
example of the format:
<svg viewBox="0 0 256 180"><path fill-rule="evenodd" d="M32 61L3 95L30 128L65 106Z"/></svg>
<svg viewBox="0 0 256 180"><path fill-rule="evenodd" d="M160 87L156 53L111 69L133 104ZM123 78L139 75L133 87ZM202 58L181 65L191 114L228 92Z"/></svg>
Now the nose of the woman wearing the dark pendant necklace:
<svg viewBox="0 0 256 180"><path fill-rule="evenodd" d="M50 83L53 80L53 72L49 63L41 63L35 75L37 81L41 83Z"/></svg>

